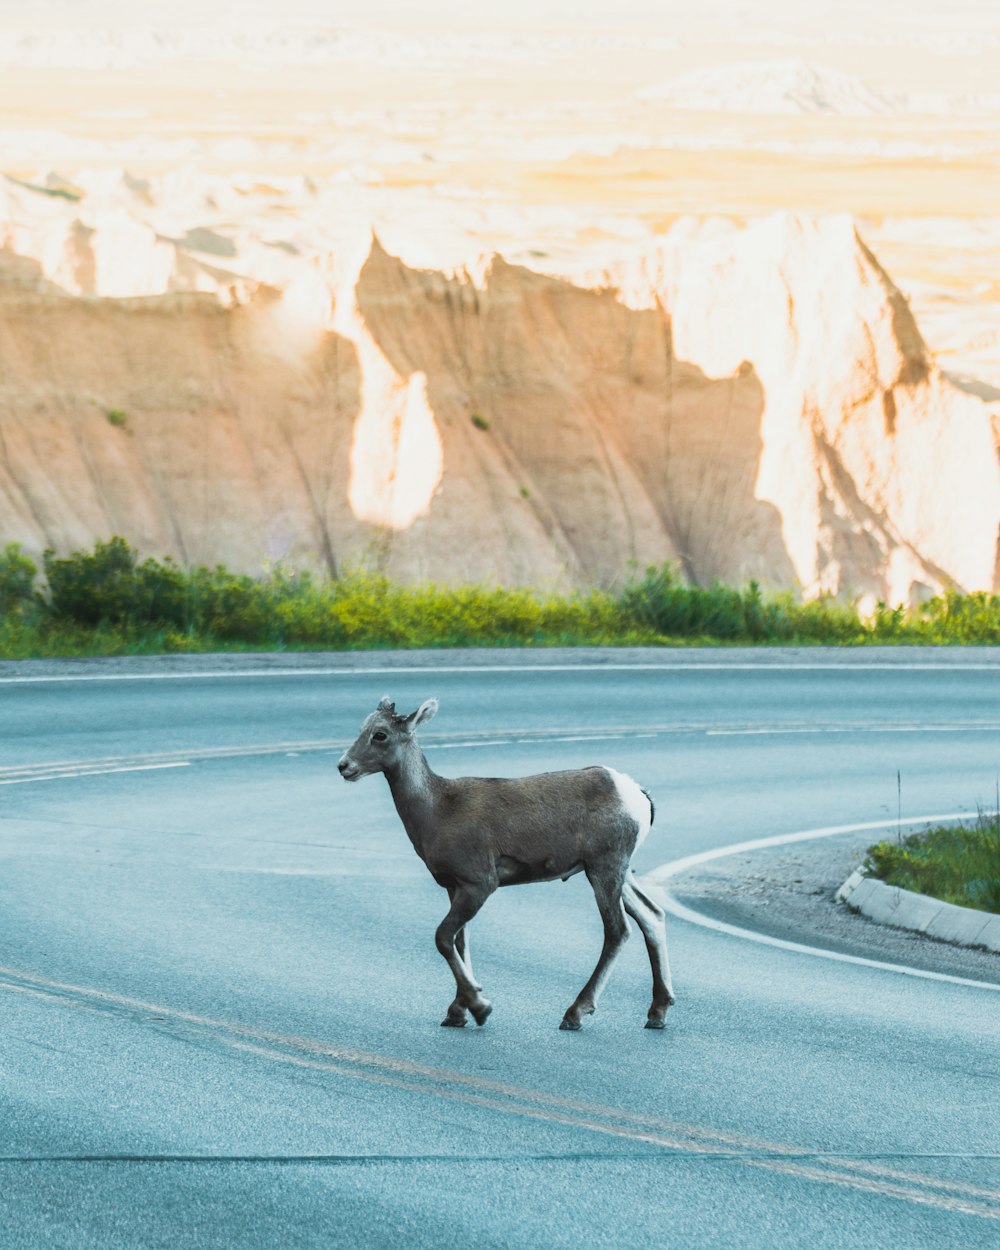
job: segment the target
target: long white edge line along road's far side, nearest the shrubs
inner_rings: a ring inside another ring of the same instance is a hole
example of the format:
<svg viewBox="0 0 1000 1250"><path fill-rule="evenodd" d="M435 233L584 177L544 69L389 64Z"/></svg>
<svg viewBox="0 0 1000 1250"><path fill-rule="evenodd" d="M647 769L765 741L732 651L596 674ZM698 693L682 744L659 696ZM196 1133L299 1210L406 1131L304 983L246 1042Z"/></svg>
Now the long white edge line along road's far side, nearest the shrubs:
<svg viewBox="0 0 1000 1250"><path fill-rule="evenodd" d="M370 678L370 676L428 676L438 674L476 672L995 672L998 664L940 664L935 661L885 661L851 662L791 662L776 660L765 664L740 661L694 660L689 664L665 661L661 664L440 664L440 665L382 665L365 668L310 668L310 669L219 669L206 672L71 672L45 676L0 676L0 685L51 684L59 681L221 681L246 678Z"/></svg>

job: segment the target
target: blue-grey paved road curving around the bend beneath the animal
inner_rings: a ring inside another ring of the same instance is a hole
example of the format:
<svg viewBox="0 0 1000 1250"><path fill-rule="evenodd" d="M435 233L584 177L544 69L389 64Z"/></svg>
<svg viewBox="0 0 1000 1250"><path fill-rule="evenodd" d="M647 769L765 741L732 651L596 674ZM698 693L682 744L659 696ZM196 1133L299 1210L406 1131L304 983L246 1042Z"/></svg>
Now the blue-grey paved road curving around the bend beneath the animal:
<svg viewBox="0 0 1000 1250"><path fill-rule="evenodd" d="M895 820L898 770L904 815L991 801L994 656L266 665L0 669L4 1250L998 1244L1000 994L674 920L664 1034L640 941L560 1032L600 945L576 878L490 900L494 1015L442 1030L444 894L334 769L382 692L436 695L442 772L639 778L650 870Z"/></svg>

